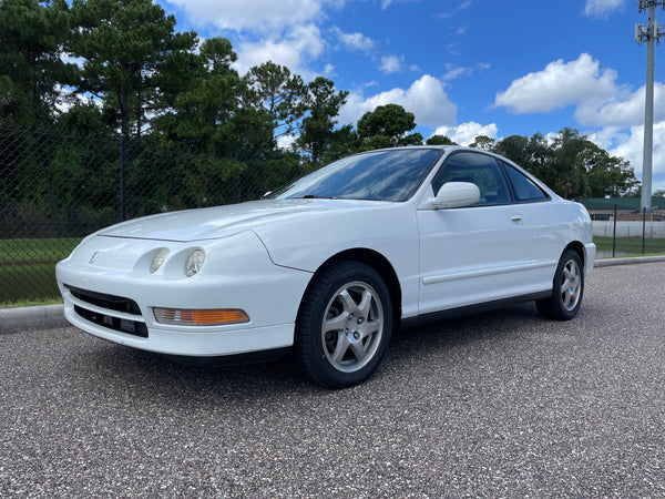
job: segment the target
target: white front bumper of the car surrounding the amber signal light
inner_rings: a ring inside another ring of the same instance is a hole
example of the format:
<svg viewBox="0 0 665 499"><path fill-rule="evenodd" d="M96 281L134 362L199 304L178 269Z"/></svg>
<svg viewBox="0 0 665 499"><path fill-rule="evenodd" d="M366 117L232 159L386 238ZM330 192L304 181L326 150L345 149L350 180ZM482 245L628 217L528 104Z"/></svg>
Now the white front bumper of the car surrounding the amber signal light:
<svg viewBox="0 0 665 499"><path fill-rule="evenodd" d="M165 271L139 272L143 256L90 262L94 252L109 248L109 240L84 243L60 262L55 274L64 299L65 318L84 332L110 342L175 356L225 356L289 347L300 299L311 274L275 265L253 233L206 247L208 261L193 277ZM181 254L185 243L134 242L131 253L143 255L168 245ZM242 251L237 248L242 247ZM103 248L103 249L100 249ZM125 254L127 251L125 251ZM119 263L120 262L120 263ZM249 322L216 326L160 324L154 307L182 309L239 308Z"/></svg>

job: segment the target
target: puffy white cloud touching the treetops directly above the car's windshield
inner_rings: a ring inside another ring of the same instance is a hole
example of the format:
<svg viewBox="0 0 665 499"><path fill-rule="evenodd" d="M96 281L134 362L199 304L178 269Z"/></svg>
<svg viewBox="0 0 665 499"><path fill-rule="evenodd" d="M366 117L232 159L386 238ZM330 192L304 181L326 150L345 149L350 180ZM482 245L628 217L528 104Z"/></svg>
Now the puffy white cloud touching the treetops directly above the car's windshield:
<svg viewBox="0 0 665 499"><path fill-rule="evenodd" d="M443 83L426 74L407 90L396 88L369 98L364 98L357 92L349 94L338 122L355 125L362 114L386 104L401 105L415 114L416 123L421 126L452 124L456 121L457 105L448 99Z"/></svg>

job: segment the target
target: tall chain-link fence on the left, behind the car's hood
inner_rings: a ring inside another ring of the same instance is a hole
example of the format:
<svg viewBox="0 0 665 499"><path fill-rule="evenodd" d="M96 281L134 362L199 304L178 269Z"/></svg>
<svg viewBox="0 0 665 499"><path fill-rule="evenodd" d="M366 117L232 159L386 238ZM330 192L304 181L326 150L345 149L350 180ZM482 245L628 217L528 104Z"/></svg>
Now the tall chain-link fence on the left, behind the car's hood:
<svg viewBox="0 0 665 499"><path fill-rule="evenodd" d="M114 135L0 125L0 304L57 298L55 263L121 214L255 200L301 173L285 153L239 161L146 135L126 144L121 182L120 150Z"/></svg>

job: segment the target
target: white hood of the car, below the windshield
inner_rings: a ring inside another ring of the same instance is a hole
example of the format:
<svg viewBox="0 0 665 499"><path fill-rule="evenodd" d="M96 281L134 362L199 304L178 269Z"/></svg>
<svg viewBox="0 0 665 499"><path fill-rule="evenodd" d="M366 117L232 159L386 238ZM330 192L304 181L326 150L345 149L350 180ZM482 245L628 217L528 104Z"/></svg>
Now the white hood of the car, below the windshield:
<svg viewBox="0 0 665 499"><path fill-rule="evenodd" d="M376 208L392 204L358 200L264 200L211 208L187 210L145 216L104 228L108 237L194 242L227 237L243 231L273 225L288 218L309 217L321 212Z"/></svg>

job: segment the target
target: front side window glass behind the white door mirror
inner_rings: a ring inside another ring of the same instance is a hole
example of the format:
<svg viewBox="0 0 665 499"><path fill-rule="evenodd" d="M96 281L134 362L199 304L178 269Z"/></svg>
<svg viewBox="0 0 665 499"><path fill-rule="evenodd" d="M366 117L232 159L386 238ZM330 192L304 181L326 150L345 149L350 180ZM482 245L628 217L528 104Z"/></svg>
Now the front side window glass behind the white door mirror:
<svg viewBox="0 0 665 499"><path fill-rule="evenodd" d="M474 206L507 204L512 201L499 163L485 154L462 152L451 155L432 181L434 194L448 182L471 182L478 185L480 200Z"/></svg>

